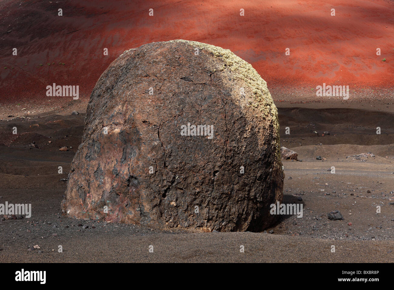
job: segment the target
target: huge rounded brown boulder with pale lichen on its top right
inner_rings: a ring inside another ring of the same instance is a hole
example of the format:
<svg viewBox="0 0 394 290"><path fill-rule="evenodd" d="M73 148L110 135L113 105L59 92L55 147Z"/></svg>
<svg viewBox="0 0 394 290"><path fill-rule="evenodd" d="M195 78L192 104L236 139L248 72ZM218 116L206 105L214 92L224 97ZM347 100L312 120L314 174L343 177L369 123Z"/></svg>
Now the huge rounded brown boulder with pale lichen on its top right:
<svg viewBox="0 0 394 290"><path fill-rule="evenodd" d="M277 109L255 69L204 43L149 43L97 81L62 207L159 228L261 230L283 178Z"/></svg>

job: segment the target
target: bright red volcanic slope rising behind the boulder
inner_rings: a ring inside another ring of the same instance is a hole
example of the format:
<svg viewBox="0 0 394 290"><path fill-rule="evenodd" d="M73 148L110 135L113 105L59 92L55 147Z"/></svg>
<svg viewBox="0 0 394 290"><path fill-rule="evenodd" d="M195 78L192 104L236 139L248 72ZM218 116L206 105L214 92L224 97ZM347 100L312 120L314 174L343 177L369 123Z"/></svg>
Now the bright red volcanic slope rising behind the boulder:
<svg viewBox="0 0 394 290"><path fill-rule="evenodd" d="M392 0L2 0L0 101L48 98L54 82L79 85L88 96L123 51L171 39L230 49L271 88L392 87L393 15Z"/></svg>

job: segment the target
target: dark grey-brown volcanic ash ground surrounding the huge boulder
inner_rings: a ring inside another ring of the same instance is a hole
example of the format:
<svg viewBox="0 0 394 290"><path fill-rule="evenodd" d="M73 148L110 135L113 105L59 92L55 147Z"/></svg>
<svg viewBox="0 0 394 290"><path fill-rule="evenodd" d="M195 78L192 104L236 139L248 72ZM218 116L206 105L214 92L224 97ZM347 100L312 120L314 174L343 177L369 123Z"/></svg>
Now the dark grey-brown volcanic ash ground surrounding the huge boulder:
<svg viewBox="0 0 394 290"><path fill-rule="evenodd" d="M361 110L354 103L354 109L333 102L319 103L331 109L277 103L281 145L295 150L302 160L282 161L284 203L302 203L304 211L302 218L281 217L267 233L156 230L67 218L60 210L66 188L61 179L67 178L82 137L86 103L72 101L64 110L41 111L27 118L6 117L4 113L18 114L2 112L0 130L7 133L2 133L0 202L32 203L33 211L31 218L0 221L2 260L393 262L394 132L386 125L394 116L387 103L370 104ZM73 110L80 114L71 115ZM376 123L385 128L380 136L374 130ZM13 126L26 133L13 137L9 133ZM286 126L292 128L290 135L284 134ZM323 131L330 135L321 136ZM33 141L39 148L29 145ZM69 151L59 151L63 146ZM375 157L346 158L367 152ZM322 160L316 160L318 155ZM58 174L60 165L63 174ZM328 171L332 166L335 174ZM376 213L377 206L381 213ZM327 218L334 210L342 213L343 221ZM29 250L34 245L41 249ZM59 245L63 253L58 253ZM149 245L154 245L153 254L148 252ZM240 245L245 246L244 255Z"/></svg>

